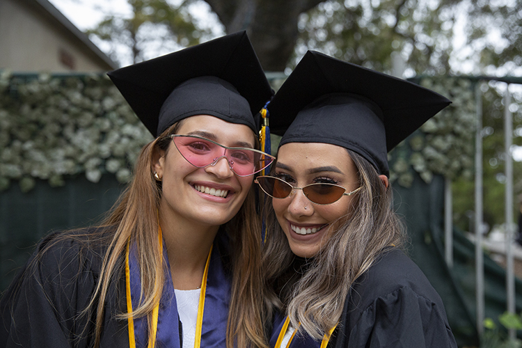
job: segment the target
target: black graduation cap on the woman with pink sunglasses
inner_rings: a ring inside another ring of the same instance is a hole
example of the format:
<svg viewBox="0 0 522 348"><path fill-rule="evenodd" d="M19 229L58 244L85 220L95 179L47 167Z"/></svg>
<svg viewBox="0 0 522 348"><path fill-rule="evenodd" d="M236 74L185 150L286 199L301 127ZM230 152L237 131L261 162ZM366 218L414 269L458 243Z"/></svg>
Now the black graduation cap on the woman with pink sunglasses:
<svg viewBox="0 0 522 348"><path fill-rule="evenodd" d="M245 31L108 74L154 136L195 115L258 132L253 115L273 94Z"/></svg>

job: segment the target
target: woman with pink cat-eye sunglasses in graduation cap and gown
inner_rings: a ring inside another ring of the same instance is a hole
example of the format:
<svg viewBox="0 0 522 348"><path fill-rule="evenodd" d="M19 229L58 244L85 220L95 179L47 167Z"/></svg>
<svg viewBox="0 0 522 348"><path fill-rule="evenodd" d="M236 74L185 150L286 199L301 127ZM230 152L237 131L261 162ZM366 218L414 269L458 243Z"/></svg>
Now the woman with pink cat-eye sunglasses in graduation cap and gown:
<svg viewBox="0 0 522 348"><path fill-rule="evenodd" d="M155 139L97 226L45 238L3 295L1 347L266 347L253 176L274 157L246 33L109 73Z"/></svg>

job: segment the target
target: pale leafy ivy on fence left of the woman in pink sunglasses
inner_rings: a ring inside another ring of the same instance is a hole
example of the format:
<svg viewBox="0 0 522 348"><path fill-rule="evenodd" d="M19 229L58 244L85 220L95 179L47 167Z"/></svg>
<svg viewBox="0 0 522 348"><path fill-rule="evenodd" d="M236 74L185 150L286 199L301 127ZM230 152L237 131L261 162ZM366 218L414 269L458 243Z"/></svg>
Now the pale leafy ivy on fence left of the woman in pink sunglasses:
<svg viewBox="0 0 522 348"><path fill-rule="evenodd" d="M139 150L152 140L102 74L37 77L0 72L0 191L35 179L53 187L68 175L128 182Z"/></svg>

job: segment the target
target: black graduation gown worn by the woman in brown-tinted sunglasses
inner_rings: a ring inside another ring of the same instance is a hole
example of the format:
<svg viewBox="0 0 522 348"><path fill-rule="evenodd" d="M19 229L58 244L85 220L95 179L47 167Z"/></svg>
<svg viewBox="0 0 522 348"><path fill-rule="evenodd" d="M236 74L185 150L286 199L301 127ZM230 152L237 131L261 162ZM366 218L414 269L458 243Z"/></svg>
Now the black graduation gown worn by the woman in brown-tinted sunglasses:
<svg viewBox="0 0 522 348"><path fill-rule="evenodd" d="M457 348L441 297L418 266L390 248L351 287L328 347Z"/></svg>

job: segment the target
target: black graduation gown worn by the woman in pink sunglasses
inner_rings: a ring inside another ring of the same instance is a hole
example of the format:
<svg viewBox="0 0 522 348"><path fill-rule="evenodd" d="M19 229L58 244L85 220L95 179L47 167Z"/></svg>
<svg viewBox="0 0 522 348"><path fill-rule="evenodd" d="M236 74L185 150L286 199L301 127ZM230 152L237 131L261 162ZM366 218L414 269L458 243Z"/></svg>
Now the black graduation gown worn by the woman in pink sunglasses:
<svg viewBox="0 0 522 348"><path fill-rule="evenodd" d="M93 296L102 255L102 248L87 250L68 238L36 267L26 264L0 301L0 347L92 347L94 315L75 318ZM125 276L110 285L100 347L129 347L127 320L114 317L124 310Z"/></svg>

